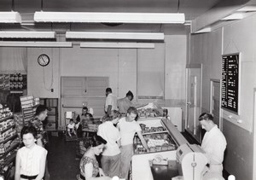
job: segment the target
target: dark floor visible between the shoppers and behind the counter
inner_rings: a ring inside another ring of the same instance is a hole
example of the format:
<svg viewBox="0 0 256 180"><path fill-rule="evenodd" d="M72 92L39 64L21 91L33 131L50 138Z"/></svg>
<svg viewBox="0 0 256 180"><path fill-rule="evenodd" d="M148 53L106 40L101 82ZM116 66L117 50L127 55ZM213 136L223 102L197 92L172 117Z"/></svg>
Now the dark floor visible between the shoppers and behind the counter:
<svg viewBox="0 0 256 180"><path fill-rule="evenodd" d="M183 133L190 143L196 143L187 133ZM79 174L79 158L76 155L76 142L65 141L65 136L59 132L58 136L49 133L48 166L51 180L76 180ZM224 178L229 173L224 171Z"/></svg>

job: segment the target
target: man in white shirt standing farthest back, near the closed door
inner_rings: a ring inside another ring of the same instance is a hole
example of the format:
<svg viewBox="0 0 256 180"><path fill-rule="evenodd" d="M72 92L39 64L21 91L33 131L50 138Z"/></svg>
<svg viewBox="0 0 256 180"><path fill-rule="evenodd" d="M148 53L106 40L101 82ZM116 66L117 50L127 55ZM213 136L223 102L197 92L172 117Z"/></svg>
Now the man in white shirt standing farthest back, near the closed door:
<svg viewBox="0 0 256 180"><path fill-rule="evenodd" d="M105 102L105 113L108 115L113 110L118 110L117 97L112 94L111 88L106 89L106 102Z"/></svg>

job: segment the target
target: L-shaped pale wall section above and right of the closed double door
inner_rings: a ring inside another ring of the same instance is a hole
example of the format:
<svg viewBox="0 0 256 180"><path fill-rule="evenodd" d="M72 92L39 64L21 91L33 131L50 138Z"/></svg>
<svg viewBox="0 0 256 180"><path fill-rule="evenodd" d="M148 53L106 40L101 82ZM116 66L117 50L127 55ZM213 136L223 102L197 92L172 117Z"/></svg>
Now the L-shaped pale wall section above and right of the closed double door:
<svg viewBox="0 0 256 180"><path fill-rule="evenodd" d="M136 52L136 49L81 49L79 46L61 49L61 76L108 77L113 94L123 97L131 90L136 95Z"/></svg>

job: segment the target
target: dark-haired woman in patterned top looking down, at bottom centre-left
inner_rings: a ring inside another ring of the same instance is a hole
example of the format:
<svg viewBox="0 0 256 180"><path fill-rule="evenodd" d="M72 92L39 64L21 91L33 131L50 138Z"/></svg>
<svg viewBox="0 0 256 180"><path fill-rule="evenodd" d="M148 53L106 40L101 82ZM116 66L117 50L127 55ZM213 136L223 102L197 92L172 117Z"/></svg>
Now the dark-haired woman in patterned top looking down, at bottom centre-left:
<svg viewBox="0 0 256 180"><path fill-rule="evenodd" d="M106 177L102 168L99 167L96 155L102 153L102 150L107 142L101 136L92 136L90 147L87 148L82 159L80 160L80 174L77 175L78 180L110 180Z"/></svg>

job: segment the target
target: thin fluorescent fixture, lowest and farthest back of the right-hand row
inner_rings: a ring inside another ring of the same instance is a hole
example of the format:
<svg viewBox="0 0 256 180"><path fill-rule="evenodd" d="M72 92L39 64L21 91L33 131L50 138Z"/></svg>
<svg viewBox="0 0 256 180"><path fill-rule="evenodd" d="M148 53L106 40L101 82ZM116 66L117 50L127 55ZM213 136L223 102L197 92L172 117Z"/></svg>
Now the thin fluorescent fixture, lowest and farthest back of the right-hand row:
<svg viewBox="0 0 256 180"><path fill-rule="evenodd" d="M154 49L154 44L86 42L81 43L80 48Z"/></svg>

